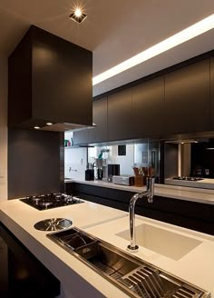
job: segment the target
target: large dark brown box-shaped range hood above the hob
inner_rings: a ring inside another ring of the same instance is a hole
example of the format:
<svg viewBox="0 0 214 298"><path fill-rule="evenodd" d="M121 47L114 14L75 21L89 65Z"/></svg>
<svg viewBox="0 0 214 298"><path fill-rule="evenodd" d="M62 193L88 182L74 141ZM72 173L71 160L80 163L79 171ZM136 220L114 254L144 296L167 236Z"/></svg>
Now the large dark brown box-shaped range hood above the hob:
<svg viewBox="0 0 214 298"><path fill-rule="evenodd" d="M9 127L92 127L92 52L32 25L8 66Z"/></svg>

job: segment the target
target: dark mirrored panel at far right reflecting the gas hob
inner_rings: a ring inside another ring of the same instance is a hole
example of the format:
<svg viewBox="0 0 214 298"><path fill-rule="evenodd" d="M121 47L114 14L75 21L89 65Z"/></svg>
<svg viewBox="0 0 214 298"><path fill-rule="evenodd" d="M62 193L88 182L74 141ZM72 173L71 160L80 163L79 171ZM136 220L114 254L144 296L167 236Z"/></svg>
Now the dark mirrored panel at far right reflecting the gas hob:
<svg viewBox="0 0 214 298"><path fill-rule="evenodd" d="M214 189L214 139L164 144L165 184Z"/></svg>

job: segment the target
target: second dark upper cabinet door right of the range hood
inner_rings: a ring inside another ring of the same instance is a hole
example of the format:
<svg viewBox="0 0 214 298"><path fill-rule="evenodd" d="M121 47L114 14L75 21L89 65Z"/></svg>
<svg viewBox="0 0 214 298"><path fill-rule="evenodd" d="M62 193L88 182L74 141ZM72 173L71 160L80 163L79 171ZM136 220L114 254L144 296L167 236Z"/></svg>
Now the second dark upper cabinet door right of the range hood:
<svg viewBox="0 0 214 298"><path fill-rule="evenodd" d="M132 137L131 88L108 96L109 141Z"/></svg>

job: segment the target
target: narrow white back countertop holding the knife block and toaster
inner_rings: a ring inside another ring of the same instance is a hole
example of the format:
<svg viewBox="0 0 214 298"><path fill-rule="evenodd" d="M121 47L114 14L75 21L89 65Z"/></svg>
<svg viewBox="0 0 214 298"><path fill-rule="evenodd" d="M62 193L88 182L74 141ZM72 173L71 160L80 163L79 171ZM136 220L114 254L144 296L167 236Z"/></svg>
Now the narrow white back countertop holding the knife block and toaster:
<svg viewBox="0 0 214 298"><path fill-rule="evenodd" d="M128 192L141 193L146 189L143 187L136 186L126 186L119 184L112 184L100 180L96 181L85 181L77 179L65 179L65 183L78 183L78 184L88 184L92 186L101 186L112 189L118 189ZM199 189L193 187L182 187L175 185L166 185L166 184L155 184L154 188L155 195L169 197L172 199L179 199L184 201L191 201L203 204L214 204L214 190L210 189Z"/></svg>

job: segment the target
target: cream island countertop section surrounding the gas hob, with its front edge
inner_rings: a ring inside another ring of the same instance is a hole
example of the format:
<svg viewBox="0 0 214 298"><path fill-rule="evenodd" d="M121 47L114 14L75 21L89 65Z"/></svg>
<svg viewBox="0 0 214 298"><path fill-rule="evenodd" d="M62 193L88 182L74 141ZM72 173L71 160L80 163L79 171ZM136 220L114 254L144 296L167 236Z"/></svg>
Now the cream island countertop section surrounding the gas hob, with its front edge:
<svg viewBox="0 0 214 298"><path fill-rule="evenodd" d="M50 232L35 230L34 224L48 218L62 217L72 220L73 226L84 229L124 215L122 211L89 202L44 211L19 200L0 203L0 221L61 281L62 298L127 295L48 239L46 233Z"/></svg>

